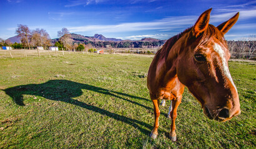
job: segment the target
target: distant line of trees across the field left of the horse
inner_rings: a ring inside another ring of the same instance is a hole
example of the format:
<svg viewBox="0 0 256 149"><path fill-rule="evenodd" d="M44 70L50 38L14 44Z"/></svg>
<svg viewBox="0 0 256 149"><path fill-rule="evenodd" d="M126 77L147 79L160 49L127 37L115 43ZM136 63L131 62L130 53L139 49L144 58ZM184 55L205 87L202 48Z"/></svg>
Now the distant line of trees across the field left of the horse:
<svg viewBox="0 0 256 149"><path fill-rule="evenodd" d="M29 50L36 47L50 47L54 45L63 50L81 50L89 48L155 48L160 47L165 43L165 40L157 42L142 42L142 41L122 41L122 42L92 42L81 38L73 38L69 30L62 28L57 31L57 38L52 40L49 34L44 29L31 30L27 25L18 24L16 34L21 38L21 43L12 44L10 41L1 40L0 46L11 46L13 48L28 48Z"/></svg>

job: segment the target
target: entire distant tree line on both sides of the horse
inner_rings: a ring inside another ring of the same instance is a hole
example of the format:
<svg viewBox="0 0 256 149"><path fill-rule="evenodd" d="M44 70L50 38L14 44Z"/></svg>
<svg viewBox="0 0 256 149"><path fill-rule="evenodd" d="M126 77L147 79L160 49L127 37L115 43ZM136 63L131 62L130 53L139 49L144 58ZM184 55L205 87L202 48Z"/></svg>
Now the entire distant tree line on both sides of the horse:
<svg viewBox="0 0 256 149"><path fill-rule="evenodd" d="M9 40L2 40L0 38L0 47L11 46L13 48L28 48L31 47L50 47L54 45L63 50L79 50L88 51L94 48L156 48L164 45L166 40L158 40L154 42L146 41L100 41L92 42L84 38L72 37L72 34L66 28L62 28L57 31L56 40L51 40L49 34L44 29L31 30L27 25L18 24L16 34L21 38L21 43L11 43ZM52 43L54 41L54 43ZM250 36L244 38L242 41L227 41L229 46L230 54L232 58L248 58L255 59L256 50L256 37Z"/></svg>

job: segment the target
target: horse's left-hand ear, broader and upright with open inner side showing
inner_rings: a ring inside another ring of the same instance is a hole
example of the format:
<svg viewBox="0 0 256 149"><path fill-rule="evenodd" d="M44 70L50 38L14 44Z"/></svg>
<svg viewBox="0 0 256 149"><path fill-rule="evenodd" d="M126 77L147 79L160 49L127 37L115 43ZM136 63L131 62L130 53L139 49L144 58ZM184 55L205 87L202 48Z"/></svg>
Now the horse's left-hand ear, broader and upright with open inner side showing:
<svg viewBox="0 0 256 149"><path fill-rule="evenodd" d="M204 32L205 29L207 29L210 20L210 11L212 11L212 8L203 12L199 19L197 19L197 22L195 22L195 25L193 27L193 35L195 37L197 37L201 32Z"/></svg>

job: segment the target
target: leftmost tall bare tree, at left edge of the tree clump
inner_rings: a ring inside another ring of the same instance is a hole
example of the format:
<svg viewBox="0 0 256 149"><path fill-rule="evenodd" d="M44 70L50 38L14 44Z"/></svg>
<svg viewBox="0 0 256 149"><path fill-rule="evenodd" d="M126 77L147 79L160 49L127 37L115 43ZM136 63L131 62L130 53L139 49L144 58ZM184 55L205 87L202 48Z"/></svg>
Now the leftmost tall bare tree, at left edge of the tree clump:
<svg viewBox="0 0 256 149"><path fill-rule="evenodd" d="M31 37L31 30L29 30L29 27L27 25L18 24L16 29L16 34L21 37L21 42L26 44L29 47L29 38Z"/></svg>

